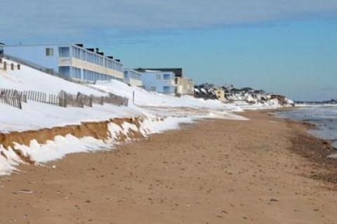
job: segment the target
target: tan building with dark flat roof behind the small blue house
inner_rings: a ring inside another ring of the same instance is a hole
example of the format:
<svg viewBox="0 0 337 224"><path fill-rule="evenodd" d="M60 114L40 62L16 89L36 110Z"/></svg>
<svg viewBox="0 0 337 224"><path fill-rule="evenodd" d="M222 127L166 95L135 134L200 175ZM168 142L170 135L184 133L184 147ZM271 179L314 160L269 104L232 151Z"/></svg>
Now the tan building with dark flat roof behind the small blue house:
<svg viewBox="0 0 337 224"><path fill-rule="evenodd" d="M161 72L173 72L175 75L175 93L176 95L193 95L194 84L193 80L183 76L182 68L146 68L138 70L154 70Z"/></svg>

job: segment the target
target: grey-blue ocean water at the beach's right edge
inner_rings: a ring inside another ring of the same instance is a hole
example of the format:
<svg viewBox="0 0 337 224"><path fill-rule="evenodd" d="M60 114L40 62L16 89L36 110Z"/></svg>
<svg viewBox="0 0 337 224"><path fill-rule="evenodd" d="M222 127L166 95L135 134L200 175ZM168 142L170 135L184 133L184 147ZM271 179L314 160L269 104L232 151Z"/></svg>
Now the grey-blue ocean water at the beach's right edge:
<svg viewBox="0 0 337 224"><path fill-rule="evenodd" d="M337 147L337 106L295 107L294 110L276 112L278 117L316 124L317 129L311 130L313 135L333 140Z"/></svg>

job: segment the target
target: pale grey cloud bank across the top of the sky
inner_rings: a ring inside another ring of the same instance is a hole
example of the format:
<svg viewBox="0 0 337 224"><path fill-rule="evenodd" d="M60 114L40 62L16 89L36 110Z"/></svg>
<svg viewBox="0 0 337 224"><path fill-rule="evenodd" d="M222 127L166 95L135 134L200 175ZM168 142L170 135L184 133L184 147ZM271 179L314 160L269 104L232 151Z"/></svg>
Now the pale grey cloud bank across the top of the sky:
<svg viewBox="0 0 337 224"><path fill-rule="evenodd" d="M336 16L336 0L1 0L1 37L199 29Z"/></svg>

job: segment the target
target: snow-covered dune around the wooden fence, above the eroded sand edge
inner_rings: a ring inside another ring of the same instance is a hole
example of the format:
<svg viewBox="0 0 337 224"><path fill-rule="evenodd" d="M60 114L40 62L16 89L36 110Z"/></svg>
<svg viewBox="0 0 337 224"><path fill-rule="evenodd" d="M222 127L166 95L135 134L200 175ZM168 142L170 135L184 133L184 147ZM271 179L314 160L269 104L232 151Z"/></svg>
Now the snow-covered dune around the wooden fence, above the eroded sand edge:
<svg viewBox="0 0 337 224"><path fill-rule="evenodd" d="M11 61L8 61L11 64ZM16 63L14 62L16 65ZM98 82L92 86L72 83L50 74L34 70L25 65L17 70L0 70L0 88L13 88L18 91L41 91L57 95L61 90L76 94L78 92L90 95L107 95L114 93L129 98L128 107L117 107L110 104L93 105L93 107L57 107L44 103L28 101L22 103L22 110L0 103L0 132L27 131L81 122L105 121L116 117L201 117L210 114L209 110L220 112L240 111L234 104L224 104L218 100L201 100L192 96L174 97L145 91L143 88L128 86L121 81L111 80ZM133 92L135 103L132 103ZM163 110L151 110L149 107L159 107ZM174 112L164 107L191 107L194 113L186 110ZM202 109L200 112L195 110ZM214 114L214 112L213 112ZM226 115L223 114L225 118ZM230 117L230 116L227 116Z"/></svg>

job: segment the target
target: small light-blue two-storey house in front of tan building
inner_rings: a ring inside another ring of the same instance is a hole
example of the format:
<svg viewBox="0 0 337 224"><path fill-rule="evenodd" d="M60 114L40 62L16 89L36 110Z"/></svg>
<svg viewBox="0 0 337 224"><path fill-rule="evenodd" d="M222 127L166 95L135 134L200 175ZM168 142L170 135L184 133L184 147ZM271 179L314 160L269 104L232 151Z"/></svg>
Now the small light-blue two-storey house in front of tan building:
<svg viewBox="0 0 337 224"><path fill-rule="evenodd" d="M176 95L176 75L173 72L137 69L142 74L143 87L166 95Z"/></svg>

